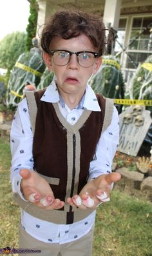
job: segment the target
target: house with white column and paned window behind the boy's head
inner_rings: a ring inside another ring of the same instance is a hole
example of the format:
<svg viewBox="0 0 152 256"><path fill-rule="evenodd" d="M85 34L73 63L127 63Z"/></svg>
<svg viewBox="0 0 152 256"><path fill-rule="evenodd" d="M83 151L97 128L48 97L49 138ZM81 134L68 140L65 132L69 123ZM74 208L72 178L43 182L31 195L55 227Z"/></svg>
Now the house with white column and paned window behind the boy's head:
<svg viewBox="0 0 152 256"><path fill-rule="evenodd" d="M50 12L80 8L100 14L107 27L117 31L113 54L120 59L128 83L138 63L152 54L151 0L37 0L39 5L37 34L41 34Z"/></svg>

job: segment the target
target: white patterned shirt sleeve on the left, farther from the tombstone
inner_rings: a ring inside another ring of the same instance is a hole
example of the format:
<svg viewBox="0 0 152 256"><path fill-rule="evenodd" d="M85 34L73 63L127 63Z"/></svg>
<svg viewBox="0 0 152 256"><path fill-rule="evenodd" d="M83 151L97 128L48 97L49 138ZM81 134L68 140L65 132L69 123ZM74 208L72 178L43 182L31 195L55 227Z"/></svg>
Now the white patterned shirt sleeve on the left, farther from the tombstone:
<svg viewBox="0 0 152 256"><path fill-rule="evenodd" d="M33 133L28 113L28 104L26 98L24 98L17 107L10 131L10 150L12 154L10 179L13 192L19 193L22 199L24 199L20 190L22 177L19 171L24 168L33 170L32 145Z"/></svg>

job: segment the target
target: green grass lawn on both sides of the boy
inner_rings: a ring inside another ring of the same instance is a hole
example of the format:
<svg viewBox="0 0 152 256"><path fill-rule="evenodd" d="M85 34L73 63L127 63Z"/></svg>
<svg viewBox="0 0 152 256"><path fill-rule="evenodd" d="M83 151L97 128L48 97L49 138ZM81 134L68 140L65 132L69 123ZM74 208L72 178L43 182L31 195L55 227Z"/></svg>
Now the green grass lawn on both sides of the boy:
<svg viewBox="0 0 152 256"><path fill-rule="evenodd" d="M19 248L20 210L12 200L10 161L10 145L0 139L0 248ZM111 255L152 256L152 204L115 189L97 210L93 239L93 256Z"/></svg>

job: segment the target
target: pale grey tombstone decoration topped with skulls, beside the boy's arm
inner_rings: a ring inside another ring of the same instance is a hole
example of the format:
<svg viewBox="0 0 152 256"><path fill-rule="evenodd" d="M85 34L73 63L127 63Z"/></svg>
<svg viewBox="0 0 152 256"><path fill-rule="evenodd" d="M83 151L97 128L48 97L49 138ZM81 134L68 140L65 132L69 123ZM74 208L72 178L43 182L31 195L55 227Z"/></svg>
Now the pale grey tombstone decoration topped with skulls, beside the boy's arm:
<svg viewBox="0 0 152 256"><path fill-rule="evenodd" d="M136 156L151 125L151 115L145 106L129 106L119 115L120 139L118 151Z"/></svg>

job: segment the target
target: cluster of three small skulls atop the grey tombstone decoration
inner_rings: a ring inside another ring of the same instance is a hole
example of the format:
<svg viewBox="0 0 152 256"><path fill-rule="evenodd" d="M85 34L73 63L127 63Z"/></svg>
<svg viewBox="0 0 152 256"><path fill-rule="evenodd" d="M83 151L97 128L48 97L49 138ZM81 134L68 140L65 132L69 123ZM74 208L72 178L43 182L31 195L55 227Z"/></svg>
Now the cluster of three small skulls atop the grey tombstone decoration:
<svg viewBox="0 0 152 256"><path fill-rule="evenodd" d="M142 116L143 110L144 110L143 106L140 106L140 105L133 106L131 112L126 113L124 115L122 123L123 124L134 123L135 126L137 127L142 126L144 124L144 117Z"/></svg>

